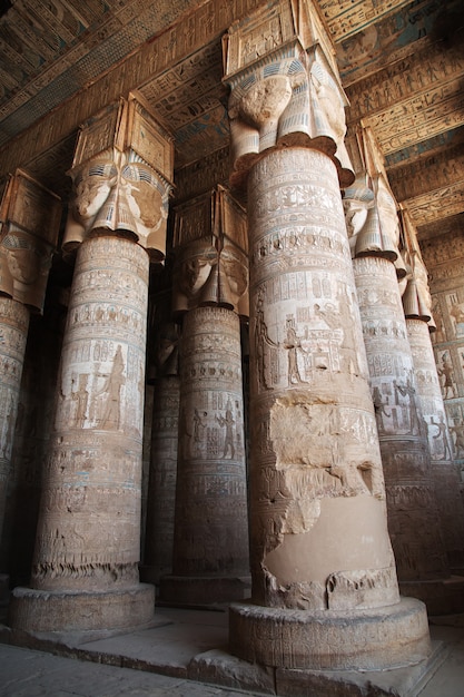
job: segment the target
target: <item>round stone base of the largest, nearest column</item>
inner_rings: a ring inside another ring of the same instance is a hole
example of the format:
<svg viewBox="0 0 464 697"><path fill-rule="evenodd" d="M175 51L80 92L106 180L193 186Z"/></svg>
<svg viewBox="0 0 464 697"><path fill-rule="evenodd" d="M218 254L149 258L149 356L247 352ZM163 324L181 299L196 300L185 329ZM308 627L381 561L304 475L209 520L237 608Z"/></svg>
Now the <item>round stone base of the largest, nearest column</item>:
<svg viewBox="0 0 464 697"><path fill-rule="evenodd" d="M367 610L229 608L229 650L261 666L382 670L415 665L432 647L425 606L415 598Z"/></svg>

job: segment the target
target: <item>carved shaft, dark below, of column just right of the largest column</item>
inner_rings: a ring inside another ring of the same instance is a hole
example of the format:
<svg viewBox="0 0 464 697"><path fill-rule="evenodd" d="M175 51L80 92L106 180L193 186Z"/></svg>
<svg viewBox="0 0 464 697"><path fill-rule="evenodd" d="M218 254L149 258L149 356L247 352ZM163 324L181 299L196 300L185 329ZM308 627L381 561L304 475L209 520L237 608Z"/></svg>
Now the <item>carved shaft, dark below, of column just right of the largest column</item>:
<svg viewBox="0 0 464 697"><path fill-rule="evenodd" d="M444 578L447 561L395 267L373 256L353 265L398 579Z"/></svg>

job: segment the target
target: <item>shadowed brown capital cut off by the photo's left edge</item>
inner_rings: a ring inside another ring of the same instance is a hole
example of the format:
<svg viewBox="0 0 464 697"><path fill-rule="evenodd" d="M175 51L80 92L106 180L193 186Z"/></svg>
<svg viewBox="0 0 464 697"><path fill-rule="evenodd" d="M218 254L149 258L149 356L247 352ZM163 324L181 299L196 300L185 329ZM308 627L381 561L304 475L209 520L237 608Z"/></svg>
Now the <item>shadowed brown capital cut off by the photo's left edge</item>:
<svg viewBox="0 0 464 697"><path fill-rule="evenodd" d="M60 199L17 170L0 206L0 292L42 312L58 239Z"/></svg>

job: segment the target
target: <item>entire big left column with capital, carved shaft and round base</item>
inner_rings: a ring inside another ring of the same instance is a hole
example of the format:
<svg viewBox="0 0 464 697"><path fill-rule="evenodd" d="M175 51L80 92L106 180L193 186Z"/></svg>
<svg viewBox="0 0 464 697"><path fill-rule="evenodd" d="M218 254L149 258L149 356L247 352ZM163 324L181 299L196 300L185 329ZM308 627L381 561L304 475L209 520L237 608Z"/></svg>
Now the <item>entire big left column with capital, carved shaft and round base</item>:
<svg viewBox="0 0 464 697"><path fill-rule="evenodd" d="M83 125L63 246L77 257L31 587L9 621L26 631L147 622L139 583L149 259L165 252L172 146L129 97Z"/></svg>

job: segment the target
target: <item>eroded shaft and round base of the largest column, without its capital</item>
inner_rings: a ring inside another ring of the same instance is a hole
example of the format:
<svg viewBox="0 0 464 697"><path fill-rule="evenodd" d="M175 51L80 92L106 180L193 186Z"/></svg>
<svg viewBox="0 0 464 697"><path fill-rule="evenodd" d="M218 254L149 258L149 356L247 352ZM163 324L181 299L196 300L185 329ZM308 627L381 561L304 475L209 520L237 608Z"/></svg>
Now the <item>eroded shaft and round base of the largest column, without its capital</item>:
<svg viewBox="0 0 464 697"><path fill-rule="evenodd" d="M251 168L248 206L254 605L231 608L231 650L300 668L379 665L404 621L413 642L425 625L422 608L413 622L399 609L335 165L272 151ZM384 656L379 635L364 645L381 616Z"/></svg>

